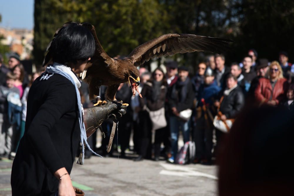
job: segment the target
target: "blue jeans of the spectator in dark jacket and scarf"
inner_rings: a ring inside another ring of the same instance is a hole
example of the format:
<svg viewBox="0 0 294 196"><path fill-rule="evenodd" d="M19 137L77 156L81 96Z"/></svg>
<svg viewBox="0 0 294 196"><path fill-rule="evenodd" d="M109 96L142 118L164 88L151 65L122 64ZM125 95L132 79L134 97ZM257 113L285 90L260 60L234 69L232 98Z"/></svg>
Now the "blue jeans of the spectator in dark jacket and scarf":
<svg viewBox="0 0 294 196"><path fill-rule="evenodd" d="M183 133L184 143L190 140L189 121L184 122L178 119L176 116L169 118L170 130L171 130L171 150L172 156L176 159L178 153L178 135L181 129Z"/></svg>

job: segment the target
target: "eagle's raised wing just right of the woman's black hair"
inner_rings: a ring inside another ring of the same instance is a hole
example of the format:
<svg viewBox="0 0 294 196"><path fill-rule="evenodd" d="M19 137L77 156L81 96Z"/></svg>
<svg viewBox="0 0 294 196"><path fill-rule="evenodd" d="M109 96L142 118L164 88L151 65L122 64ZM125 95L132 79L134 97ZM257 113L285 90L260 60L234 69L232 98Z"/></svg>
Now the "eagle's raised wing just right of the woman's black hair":
<svg viewBox="0 0 294 196"><path fill-rule="evenodd" d="M97 34L95 31L95 27L93 25L91 25L90 23L82 23L83 26L87 27L94 39L95 39L95 43L96 43L96 51L93 57L91 57L91 60L87 63L86 68L92 66L92 64L95 65L99 65L99 66L110 66L114 63L113 58L109 57L106 52L103 50L98 38L97 38Z"/></svg>

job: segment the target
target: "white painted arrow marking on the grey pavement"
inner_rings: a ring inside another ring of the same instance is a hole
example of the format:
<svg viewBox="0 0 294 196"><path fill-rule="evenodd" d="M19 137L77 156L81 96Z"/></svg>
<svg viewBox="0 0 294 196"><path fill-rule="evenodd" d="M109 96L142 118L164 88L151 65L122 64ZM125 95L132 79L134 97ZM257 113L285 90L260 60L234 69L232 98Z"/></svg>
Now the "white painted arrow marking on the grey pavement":
<svg viewBox="0 0 294 196"><path fill-rule="evenodd" d="M166 163L160 163L162 167L165 168L165 170L161 170L159 174L161 175L172 175L172 176L180 176L180 177L192 177L192 176L201 176L201 177L207 177L211 178L213 180L218 180L218 177L207 174L204 172L196 171L196 168L192 167L184 167L181 165L172 165L172 164L166 164Z"/></svg>

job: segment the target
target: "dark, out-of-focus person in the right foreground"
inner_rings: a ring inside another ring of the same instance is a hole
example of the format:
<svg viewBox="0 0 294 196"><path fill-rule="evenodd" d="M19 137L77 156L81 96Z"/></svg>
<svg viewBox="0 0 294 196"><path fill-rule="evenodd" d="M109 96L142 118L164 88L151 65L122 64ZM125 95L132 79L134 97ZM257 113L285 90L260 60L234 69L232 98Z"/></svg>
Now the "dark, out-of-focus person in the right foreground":
<svg viewBox="0 0 294 196"><path fill-rule="evenodd" d="M219 195L293 195L293 127L283 108L244 110L218 155Z"/></svg>

